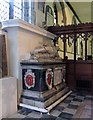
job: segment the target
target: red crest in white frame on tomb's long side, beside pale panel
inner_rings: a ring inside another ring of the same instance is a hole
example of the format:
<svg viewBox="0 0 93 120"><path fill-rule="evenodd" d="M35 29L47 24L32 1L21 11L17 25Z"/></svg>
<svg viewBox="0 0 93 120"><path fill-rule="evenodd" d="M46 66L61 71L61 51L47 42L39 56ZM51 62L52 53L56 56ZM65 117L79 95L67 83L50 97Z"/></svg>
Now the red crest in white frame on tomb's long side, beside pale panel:
<svg viewBox="0 0 93 120"><path fill-rule="evenodd" d="M53 72L52 69L48 69L46 71L46 84L49 89L52 88L52 83L53 83Z"/></svg>

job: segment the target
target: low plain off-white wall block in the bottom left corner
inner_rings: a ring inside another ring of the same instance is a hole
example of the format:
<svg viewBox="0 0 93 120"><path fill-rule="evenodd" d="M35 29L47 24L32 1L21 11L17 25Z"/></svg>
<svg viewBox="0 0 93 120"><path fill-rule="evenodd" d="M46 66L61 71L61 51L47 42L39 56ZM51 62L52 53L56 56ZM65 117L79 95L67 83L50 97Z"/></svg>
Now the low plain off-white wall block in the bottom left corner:
<svg viewBox="0 0 93 120"><path fill-rule="evenodd" d="M0 120L17 112L17 79L0 79Z"/></svg>

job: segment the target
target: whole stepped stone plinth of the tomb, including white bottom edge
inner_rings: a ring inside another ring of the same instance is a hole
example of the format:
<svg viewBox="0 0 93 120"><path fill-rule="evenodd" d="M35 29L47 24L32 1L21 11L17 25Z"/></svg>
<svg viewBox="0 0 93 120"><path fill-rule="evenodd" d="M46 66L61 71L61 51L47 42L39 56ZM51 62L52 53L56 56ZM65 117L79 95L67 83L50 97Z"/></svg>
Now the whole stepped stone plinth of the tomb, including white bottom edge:
<svg viewBox="0 0 93 120"><path fill-rule="evenodd" d="M35 108L35 110L37 111L49 112L53 107L55 107L63 99L65 99L70 93L71 91L65 83L61 83L56 87L44 92L24 90L21 97L21 103L23 105L32 106L32 109Z"/></svg>

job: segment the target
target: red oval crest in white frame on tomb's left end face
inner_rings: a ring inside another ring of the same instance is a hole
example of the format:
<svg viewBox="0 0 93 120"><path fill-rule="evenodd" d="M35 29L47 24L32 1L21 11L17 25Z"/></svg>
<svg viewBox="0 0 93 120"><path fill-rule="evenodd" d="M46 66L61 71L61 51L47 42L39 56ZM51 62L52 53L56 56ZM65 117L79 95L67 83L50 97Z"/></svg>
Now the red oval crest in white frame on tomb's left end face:
<svg viewBox="0 0 93 120"><path fill-rule="evenodd" d="M25 77L25 86L30 89L31 87L35 86L35 75L32 73L32 70L27 70Z"/></svg>

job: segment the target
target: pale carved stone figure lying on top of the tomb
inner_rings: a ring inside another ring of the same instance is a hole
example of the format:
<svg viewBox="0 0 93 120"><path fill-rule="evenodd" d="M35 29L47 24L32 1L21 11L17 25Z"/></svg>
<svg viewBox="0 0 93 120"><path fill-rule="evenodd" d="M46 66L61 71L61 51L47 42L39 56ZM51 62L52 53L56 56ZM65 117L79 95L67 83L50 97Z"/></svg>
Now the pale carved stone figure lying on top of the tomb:
<svg viewBox="0 0 93 120"><path fill-rule="evenodd" d="M41 43L39 47L30 52L30 60L38 62L61 61L57 52L58 49L48 43Z"/></svg>

